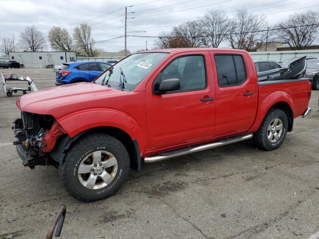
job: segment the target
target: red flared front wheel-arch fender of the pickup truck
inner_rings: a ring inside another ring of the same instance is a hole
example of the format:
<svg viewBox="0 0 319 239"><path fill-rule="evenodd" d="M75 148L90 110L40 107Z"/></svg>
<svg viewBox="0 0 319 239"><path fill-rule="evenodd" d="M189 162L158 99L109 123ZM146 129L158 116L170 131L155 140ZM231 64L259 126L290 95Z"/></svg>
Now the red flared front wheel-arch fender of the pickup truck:
<svg viewBox="0 0 319 239"><path fill-rule="evenodd" d="M129 115L116 110L90 109L65 116L58 122L71 138L91 128L110 126L128 133L138 141L141 149L147 147L147 135L141 125Z"/></svg>

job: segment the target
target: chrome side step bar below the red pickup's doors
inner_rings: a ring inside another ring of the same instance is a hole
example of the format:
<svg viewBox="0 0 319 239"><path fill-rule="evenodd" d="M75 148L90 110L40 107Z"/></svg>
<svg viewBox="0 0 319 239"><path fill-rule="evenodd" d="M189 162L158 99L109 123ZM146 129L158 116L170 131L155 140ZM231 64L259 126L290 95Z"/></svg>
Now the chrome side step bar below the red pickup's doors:
<svg viewBox="0 0 319 239"><path fill-rule="evenodd" d="M231 144L231 143L237 143L237 142L240 142L243 140L250 139L252 137L253 137L252 133L247 133L247 134L242 134L242 135L231 137L231 138L221 139L221 140L207 143L207 144L201 144L201 145L187 147L187 148L183 148L183 149L179 149L179 150L175 150L175 151L164 152L164 153L160 153L160 154L155 155L155 156L145 157L144 162L154 163L154 162L158 162L158 161L165 160L168 158L178 157L178 156L182 156L182 155L189 154L189 153L195 153L195 152L199 152L202 150L216 148L216 147L220 147L220 146Z"/></svg>

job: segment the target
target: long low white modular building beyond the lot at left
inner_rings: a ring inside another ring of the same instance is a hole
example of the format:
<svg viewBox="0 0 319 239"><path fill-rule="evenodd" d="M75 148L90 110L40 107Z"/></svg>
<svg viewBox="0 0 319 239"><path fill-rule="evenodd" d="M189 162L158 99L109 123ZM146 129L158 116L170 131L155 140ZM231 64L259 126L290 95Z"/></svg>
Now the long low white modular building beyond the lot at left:
<svg viewBox="0 0 319 239"><path fill-rule="evenodd" d="M76 54L65 51L9 52L9 60L20 62L21 67L25 68L53 68L76 61Z"/></svg>

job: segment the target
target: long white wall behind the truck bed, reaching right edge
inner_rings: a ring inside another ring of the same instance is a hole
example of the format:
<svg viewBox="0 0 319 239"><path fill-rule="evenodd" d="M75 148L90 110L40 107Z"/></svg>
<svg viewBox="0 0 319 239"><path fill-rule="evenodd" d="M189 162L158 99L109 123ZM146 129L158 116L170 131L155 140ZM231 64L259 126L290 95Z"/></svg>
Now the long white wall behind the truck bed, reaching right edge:
<svg viewBox="0 0 319 239"><path fill-rule="evenodd" d="M275 60L283 62L288 58L313 56L319 58L319 49L316 50L296 50L296 51L266 51L249 52L253 60Z"/></svg>

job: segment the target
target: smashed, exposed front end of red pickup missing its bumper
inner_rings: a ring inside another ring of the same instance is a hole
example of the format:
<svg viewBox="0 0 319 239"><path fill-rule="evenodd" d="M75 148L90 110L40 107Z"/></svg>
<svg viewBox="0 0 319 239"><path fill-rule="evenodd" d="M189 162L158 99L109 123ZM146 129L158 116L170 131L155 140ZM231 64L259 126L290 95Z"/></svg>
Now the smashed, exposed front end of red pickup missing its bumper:
<svg viewBox="0 0 319 239"><path fill-rule="evenodd" d="M21 112L21 118L13 123L12 129L17 138L13 144L24 166L31 169L36 165L57 166L48 152L65 131L52 116Z"/></svg>

